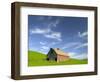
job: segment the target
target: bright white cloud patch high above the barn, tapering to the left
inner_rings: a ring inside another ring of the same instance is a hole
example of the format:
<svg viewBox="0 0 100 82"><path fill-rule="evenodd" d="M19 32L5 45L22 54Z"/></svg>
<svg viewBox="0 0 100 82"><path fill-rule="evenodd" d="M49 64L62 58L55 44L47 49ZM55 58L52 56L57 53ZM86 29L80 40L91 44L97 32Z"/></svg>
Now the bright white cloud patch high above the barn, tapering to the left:
<svg viewBox="0 0 100 82"><path fill-rule="evenodd" d="M61 40L61 33L60 32L52 32L50 34L45 34L44 36L46 38L51 38L51 39L56 39L58 41L62 41Z"/></svg>

